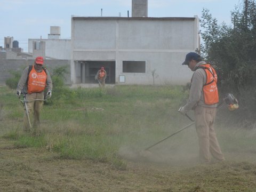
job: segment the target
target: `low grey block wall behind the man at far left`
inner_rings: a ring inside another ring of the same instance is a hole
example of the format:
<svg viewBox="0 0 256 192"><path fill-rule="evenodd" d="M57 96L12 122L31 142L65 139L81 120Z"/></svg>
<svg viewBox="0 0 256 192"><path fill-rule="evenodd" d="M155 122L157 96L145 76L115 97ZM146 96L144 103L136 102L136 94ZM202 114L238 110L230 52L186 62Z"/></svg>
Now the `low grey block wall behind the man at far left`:
<svg viewBox="0 0 256 192"><path fill-rule="evenodd" d="M33 65L34 60L25 59L0 59L0 84L5 84L7 78L13 77L10 70L22 70L28 65ZM69 60L45 60L45 66L52 72L53 69L67 66L68 74L65 76L66 84L70 84Z"/></svg>

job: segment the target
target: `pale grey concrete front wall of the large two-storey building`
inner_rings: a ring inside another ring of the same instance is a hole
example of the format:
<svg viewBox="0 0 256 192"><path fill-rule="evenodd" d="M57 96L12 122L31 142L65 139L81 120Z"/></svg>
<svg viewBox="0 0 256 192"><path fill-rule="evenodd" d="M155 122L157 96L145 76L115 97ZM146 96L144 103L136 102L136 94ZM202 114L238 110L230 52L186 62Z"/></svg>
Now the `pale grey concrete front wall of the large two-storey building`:
<svg viewBox="0 0 256 192"><path fill-rule="evenodd" d="M186 84L191 71L181 66L199 46L198 18L71 19L71 81L79 73L74 61L116 62L116 84ZM146 73L123 73L123 61L146 61ZM122 83L123 84L123 83Z"/></svg>

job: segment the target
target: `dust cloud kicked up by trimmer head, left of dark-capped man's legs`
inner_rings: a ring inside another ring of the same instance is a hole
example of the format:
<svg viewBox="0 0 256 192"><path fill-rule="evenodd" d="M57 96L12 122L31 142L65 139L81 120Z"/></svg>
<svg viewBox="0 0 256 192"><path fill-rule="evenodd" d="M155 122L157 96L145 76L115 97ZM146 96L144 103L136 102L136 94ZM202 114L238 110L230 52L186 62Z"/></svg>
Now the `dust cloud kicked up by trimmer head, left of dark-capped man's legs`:
<svg viewBox="0 0 256 192"><path fill-rule="evenodd" d="M191 139L191 138L190 138ZM185 141L183 142L182 141ZM192 143L183 137L182 141L164 141L149 150L141 147L123 146L118 154L127 161L169 164L173 166L194 166L198 163L197 140Z"/></svg>

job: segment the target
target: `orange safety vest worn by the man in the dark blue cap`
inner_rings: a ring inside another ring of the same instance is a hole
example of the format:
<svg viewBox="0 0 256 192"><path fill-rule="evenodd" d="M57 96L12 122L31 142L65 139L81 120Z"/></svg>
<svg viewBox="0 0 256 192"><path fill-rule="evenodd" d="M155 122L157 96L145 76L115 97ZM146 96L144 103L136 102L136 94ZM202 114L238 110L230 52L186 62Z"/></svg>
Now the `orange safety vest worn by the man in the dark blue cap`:
<svg viewBox="0 0 256 192"><path fill-rule="evenodd" d="M206 73L206 83L203 85L204 103L213 105L219 102L219 93L217 87L217 74L210 64L201 65L197 69L202 68Z"/></svg>

